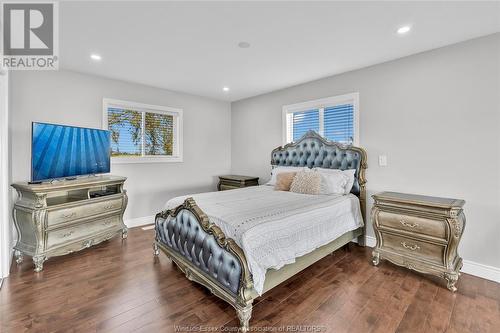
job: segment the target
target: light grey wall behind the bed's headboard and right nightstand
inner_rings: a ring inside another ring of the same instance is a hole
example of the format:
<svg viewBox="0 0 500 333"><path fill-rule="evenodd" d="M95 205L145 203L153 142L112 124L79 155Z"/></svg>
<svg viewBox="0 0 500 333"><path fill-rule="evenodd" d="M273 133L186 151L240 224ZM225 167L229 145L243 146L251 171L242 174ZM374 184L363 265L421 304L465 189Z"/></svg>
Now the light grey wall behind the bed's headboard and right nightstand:
<svg viewBox="0 0 500 333"><path fill-rule="evenodd" d="M461 255L500 268L499 81L495 34L234 102L232 172L268 178L283 105L359 92L368 195L465 199ZM379 154L387 167L378 166Z"/></svg>

